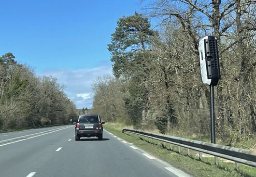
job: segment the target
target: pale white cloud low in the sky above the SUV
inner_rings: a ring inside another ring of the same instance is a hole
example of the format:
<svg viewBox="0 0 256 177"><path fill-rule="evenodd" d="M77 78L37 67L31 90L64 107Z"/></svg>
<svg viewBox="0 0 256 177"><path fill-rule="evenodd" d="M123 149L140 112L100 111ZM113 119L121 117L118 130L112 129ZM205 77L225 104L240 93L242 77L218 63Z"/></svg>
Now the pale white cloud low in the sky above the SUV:
<svg viewBox="0 0 256 177"><path fill-rule="evenodd" d="M93 101L92 83L98 76L112 74L111 66L101 66L91 69L47 69L38 76L53 76L58 83L66 86L65 92L76 104L77 108L91 108Z"/></svg>

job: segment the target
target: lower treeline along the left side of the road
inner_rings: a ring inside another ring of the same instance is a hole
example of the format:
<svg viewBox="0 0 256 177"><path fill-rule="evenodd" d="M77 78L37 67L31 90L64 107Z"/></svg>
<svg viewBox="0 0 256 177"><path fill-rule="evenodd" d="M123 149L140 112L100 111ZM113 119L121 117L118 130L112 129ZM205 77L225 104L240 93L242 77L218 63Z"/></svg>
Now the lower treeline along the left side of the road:
<svg viewBox="0 0 256 177"><path fill-rule="evenodd" d="M53 77L36 77L12 53L0 57L0 129L68 124L76 107Z"/></svg>

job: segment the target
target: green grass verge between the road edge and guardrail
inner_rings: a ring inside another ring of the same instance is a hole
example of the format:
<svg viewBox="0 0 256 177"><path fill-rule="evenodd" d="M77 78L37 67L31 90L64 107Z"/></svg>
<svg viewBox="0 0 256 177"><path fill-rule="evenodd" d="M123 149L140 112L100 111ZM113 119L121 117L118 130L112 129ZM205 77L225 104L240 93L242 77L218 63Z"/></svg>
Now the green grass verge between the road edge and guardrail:
<svg viewBox="0 0 256 177"><path fill-rule="evenodd" d="M149 152L159 159L191 174L195 177L256 177L256 168L240 164L239 170L234 169L233 163L227 163L219 160L219 165L214 164L213 157L204 157L203 162L195 152L186 155L186 149L182 148L181 154L177 152L177 147L173 146L170 150L170 144L161 141L152 140L144 137L137 137L134 134L122 133L123 128L133 128L119 123L106 123L104 128L114 135L133 143L146 152Z"/></svg>

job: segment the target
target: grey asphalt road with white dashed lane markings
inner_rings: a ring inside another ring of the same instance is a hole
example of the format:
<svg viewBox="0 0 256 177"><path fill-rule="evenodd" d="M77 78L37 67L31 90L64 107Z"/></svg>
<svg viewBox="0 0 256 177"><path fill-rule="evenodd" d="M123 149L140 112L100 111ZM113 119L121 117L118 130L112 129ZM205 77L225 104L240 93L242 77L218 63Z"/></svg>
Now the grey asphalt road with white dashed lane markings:
<svg viewBox="0 0 256 177"><path fill-rule="evenodd" d="M183 177L171 169L105 130L80 141L73 125L0 134L0 177Z"/></svg>

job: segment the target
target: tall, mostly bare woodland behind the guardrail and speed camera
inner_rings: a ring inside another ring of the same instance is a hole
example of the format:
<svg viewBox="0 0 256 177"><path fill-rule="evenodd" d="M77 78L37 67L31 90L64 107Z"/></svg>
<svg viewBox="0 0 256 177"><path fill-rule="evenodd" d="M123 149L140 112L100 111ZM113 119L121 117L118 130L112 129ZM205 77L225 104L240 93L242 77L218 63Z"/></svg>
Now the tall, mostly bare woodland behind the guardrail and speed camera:
<svg viewBox="0 0 256 177"><path fill-rule="evenodd" d="M218 139L232 145L255 133L256 1L153 0L143 9L117 21L108 45L114 77L95 81L92 111L162 133L209 134L199 39L212 35L222 76L215 89Z"/></svg>

